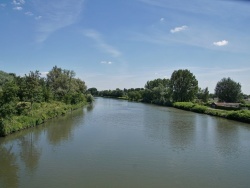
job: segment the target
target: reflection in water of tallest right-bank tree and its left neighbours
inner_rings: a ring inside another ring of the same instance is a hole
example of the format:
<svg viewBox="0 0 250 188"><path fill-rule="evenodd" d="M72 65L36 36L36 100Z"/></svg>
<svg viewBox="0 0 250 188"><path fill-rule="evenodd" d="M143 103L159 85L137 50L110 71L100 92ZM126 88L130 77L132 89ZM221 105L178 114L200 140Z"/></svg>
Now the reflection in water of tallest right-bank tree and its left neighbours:
<svg viewBox="0 0 250 188"><path fill-rule="evenodd" d="M190 148L194 141L195 116L173 108L147 106L144 126L153 140L168 144L174 150Z"/></svg>

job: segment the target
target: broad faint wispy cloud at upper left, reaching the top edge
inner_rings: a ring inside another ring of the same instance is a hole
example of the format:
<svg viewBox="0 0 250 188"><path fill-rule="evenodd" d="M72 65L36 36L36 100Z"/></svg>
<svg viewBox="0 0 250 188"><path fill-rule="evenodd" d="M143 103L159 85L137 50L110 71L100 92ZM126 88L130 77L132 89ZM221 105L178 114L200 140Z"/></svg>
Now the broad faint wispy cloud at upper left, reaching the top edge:
<svg viewBox="0 0 250 188"><path fill-rule="evenodd" d="M42 43L54 32L79 20L84 0L36 0L35 9L43 18L37 27L37 42Z"/></svg>

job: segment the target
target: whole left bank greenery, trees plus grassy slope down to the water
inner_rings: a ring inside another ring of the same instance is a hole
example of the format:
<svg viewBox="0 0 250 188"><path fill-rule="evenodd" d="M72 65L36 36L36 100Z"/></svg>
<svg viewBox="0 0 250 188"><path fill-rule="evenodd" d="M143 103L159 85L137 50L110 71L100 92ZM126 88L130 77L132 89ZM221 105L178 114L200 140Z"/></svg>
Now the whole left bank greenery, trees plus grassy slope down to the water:
<svg viewBox="0 0 250 188"><path fill-rule="evenodd" d="M39 71L24 76L1 75L0 135L40 124L93 101L85 82L75 78L74 71L57 66L46 77Z"/></svg>

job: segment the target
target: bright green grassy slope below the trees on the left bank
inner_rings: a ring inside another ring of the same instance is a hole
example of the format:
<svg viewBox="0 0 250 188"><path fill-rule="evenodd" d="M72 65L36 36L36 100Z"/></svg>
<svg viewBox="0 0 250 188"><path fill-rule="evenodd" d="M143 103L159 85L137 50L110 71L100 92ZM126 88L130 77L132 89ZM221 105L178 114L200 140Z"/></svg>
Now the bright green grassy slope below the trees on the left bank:
<svg viewBox="0 0 250 188"><path fill-rule="evenodd" d="M7 136L11 133L43 124L49 119L65 115L84 105L87 105L87 103L82 102L74 105L57 101L35 103L33 109L25 115L0 119L0 136Z"/></svg>

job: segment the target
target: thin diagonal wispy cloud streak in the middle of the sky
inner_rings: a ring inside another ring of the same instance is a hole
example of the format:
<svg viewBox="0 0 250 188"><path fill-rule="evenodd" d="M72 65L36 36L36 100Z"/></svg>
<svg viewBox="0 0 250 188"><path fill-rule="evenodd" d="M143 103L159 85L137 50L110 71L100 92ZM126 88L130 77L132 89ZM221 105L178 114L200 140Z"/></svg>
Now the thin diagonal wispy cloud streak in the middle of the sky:
<svg viewBox="0 0 250 188"><path fill-rule="evenodd" d="M89 37L91 39L93 39L98 47L105 51L106 53L110 54L112 57L119 57L121 56L121 52L119 50L117 50L116 48L114 48L113 46L107 44L101 37L100 33L98 33L95 30L85 30L84 31L84 35L86 37Z"/></svg>

